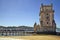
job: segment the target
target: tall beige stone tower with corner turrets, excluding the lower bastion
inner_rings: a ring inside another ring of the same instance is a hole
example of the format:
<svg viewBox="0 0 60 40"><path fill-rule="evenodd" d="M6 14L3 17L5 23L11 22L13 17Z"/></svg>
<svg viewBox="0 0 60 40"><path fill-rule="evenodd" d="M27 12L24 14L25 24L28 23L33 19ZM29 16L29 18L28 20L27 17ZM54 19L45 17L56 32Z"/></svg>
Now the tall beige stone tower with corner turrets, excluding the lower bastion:
<svg viewBox="0 0 60 40"><path fill-rule="evenodd" d="M40 31L42 32L55 32L56 23L54 20L53 5L43 5L40 7Z"/></svg>

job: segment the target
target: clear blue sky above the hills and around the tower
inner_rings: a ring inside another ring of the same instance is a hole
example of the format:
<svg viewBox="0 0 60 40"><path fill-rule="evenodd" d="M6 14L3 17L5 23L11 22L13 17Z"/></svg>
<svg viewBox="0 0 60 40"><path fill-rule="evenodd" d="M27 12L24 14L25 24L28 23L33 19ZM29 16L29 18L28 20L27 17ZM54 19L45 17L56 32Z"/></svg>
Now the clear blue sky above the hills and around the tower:
<svg viewBox="0 0 60 40"><path fill-rule="evenodd" d="M0 25L2 26L32 26L39 24L41 3L53 3L54 19L60 27L60 0L0 0Z"/></svg>

